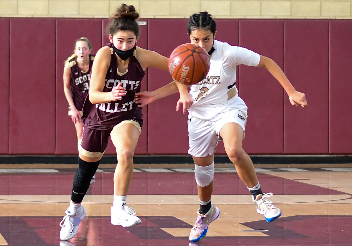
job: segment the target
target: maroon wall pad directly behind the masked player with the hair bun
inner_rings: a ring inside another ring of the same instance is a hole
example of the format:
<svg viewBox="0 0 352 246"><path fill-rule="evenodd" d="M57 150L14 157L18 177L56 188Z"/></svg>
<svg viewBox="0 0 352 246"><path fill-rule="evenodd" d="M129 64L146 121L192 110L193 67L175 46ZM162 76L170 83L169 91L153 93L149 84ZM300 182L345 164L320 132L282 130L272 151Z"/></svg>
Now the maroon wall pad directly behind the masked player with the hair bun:
<svg viewBox="0 0 352 246"><path fill-rule="evenodd" d="M143 19L139 21L144 21ZM105 35L105 29L106 26L109 22L109 19L103 19L102 20L102 45L106 45L109 42L108 36ZM139 39L137 40L137 46L143 49L147 49L147 44L148 44L148 29L147 25L140 25L140 31L141 35ZM142 85L141 85L141 91L147 91L147 78L148 78L148 71L145 71L144 78L142 80ZM148 129L148 115L147 115L147 108L142 109L143 112L143 127L142 127L142 132L140 134L138 144L136 146L136 149L134 151L135 154L146 154L147 153L147 129ZM109 144L106 148L105 154L116 154L115 147L109 139Z"/></svg>

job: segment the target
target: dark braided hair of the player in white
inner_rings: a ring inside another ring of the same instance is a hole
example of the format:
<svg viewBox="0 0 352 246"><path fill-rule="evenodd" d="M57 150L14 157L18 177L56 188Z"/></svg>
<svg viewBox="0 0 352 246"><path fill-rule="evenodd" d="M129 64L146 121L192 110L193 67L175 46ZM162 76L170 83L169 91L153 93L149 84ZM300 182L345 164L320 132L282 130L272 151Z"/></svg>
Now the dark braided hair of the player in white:
<svg viewBox="0 0 352 246"><path fill-rule="evenodd" d="M196 29L208 30L214 35L216 32L216 23L215 20L213 20L212 15L205 11L189 16L189 21L187 24L188 35Z"/></svg>

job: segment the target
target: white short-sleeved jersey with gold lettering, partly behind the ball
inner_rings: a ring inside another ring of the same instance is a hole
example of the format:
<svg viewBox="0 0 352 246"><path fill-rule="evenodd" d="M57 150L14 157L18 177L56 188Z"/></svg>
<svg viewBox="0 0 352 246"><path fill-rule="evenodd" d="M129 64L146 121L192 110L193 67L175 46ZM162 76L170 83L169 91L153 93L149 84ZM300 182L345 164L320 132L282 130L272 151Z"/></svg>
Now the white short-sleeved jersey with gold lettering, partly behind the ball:
<svg viewBox="0 0 352 246"><path fill-rule="evenodd" d="M215 51L210 58L210 69L206 78L191 85L189 92L194 99L188 109L189 116L199 119L210 119L216 114L226 112L239 106L245 107L238 97L236 81L236 66L258 66L259 54L249 49L231 46L228 43L214 40Z"/></svg>

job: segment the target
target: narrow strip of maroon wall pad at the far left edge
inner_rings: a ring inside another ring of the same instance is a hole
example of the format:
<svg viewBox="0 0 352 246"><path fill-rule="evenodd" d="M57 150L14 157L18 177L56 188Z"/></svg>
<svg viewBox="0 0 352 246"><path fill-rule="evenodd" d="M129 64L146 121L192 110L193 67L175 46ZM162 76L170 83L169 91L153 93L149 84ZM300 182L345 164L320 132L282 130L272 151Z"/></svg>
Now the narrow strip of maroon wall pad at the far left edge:
<svg viewBox="0 0 352 246"><path fill-rule="evenodd" d="M0 154L8 154L9 142L9 76L10 76L10 19L0 19Z"/></svg>

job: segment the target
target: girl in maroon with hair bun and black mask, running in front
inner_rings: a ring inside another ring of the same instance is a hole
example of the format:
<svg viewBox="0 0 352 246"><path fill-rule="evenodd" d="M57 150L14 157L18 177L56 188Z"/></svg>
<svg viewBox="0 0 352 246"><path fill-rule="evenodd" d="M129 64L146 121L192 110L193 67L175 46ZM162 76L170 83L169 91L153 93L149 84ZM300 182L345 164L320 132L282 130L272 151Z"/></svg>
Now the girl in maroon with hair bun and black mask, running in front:
<svg viewBox="0 0 352 246"><path fill-rule="evenodd" d="M107 26L109 44L96 53L92 67L88 98L83 105L83 134L78 145L78 169L74 178L71 202L60 223L60 238L75 236L86 210L81 206L90 179L98 168L108 138L116 148L118 164L114 174L114 200L111 223L129 227L141 223L136 211L126 206L126 195L133 172L133 154L143 125L142 108L134 94L147 67L168 70L168 58L136 46L140 28L134 6L122 4ZM174 83L174 82L171 82ZM175 82L180 91L179 102L186 111L193 100L186 85ZM89 99L89 100L88 100Z"/></svg>

